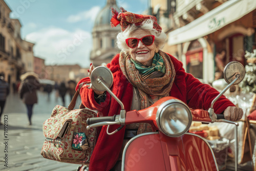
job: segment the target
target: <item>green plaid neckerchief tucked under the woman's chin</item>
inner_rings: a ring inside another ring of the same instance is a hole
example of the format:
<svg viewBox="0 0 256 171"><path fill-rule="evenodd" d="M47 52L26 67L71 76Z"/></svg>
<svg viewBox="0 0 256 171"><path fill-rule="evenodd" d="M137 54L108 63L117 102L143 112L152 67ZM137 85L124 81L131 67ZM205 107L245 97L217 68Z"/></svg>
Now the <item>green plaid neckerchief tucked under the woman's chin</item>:
<svg viewBox="0 0 256 171"><path fill-rule="evenodd" d="M161 73L165 73L165 67L163 65L163 57L158 53L155 53L153 57L152 66L147 67L143 66L140 62L135 61L131 58L132 62L135 65L135 68L139 71L139 73L143 76L150 75L154 71L159 71Z"/></svg>

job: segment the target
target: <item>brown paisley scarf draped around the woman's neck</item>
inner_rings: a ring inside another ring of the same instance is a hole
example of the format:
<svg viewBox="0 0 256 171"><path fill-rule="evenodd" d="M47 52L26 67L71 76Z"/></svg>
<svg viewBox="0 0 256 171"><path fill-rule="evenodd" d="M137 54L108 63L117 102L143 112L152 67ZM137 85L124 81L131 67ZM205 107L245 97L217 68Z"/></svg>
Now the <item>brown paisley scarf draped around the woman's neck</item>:
<svg viewBox="0 0 256 171"><path fill-rule="evenodd" d="M119 57L120 68L125 77L132 83L132 85L139 90L140 94L140 109L145 109L152 105L150 103L150 95L159 96L159 98L169 96L170 89L173 86L175 78L175 69L173 62L169 56L159 50L159 55L163 58L165 66L165 74L160 78L143 79L141 74L136 69L135 64L131 60L130 55L121 52ZM152 132L152 126L148 123L140 123L138 134L144 132Z"/></svg>

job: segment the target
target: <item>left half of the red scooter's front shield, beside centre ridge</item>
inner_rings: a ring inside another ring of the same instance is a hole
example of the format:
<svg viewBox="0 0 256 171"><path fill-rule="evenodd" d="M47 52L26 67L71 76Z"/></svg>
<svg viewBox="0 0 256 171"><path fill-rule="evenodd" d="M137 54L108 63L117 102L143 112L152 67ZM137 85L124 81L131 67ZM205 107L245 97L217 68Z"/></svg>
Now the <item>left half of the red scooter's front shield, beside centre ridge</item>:
<svg viewBox="0 0 256 171"><path fill-rule="evenodd" d="M166 170L159 136L153 132L132 138L123 151L122 170Z"/></svg>

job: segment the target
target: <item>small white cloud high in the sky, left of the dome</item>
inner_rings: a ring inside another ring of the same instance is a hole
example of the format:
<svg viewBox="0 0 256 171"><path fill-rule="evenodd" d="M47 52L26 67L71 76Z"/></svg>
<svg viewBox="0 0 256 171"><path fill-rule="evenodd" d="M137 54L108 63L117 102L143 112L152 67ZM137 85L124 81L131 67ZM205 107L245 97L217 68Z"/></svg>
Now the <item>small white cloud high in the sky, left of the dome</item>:
<svg viewBox="0 0 256 171"><path fill-rule="evenodd" d="M67 20L69 23L76 23L86 19L90 19L94 21L99 11L100 11L100 7L95 6L88 11L79 12L76 15L70 15Z"/></svg>

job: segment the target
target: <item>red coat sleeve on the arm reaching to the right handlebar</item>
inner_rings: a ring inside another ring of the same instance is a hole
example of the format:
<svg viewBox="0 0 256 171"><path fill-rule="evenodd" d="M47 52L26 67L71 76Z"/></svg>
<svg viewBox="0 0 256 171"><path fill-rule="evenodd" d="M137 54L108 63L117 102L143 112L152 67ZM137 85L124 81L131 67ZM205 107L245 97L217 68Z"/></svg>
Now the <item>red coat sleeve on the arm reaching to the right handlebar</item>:
<svg viewBox="0 0 256 171"><path fill-rule="evenodd" d="M168 54L169 55L169 54ZM176 76L170 95L186 102L189 108L208 110L211 101L219 95L219 92L208 84L203 84L193 75L186 73L182 62L169 55L172 60ZM221 96L214 104L216 114L222 113L228 106L235 106L225 96Z"/></svg>

